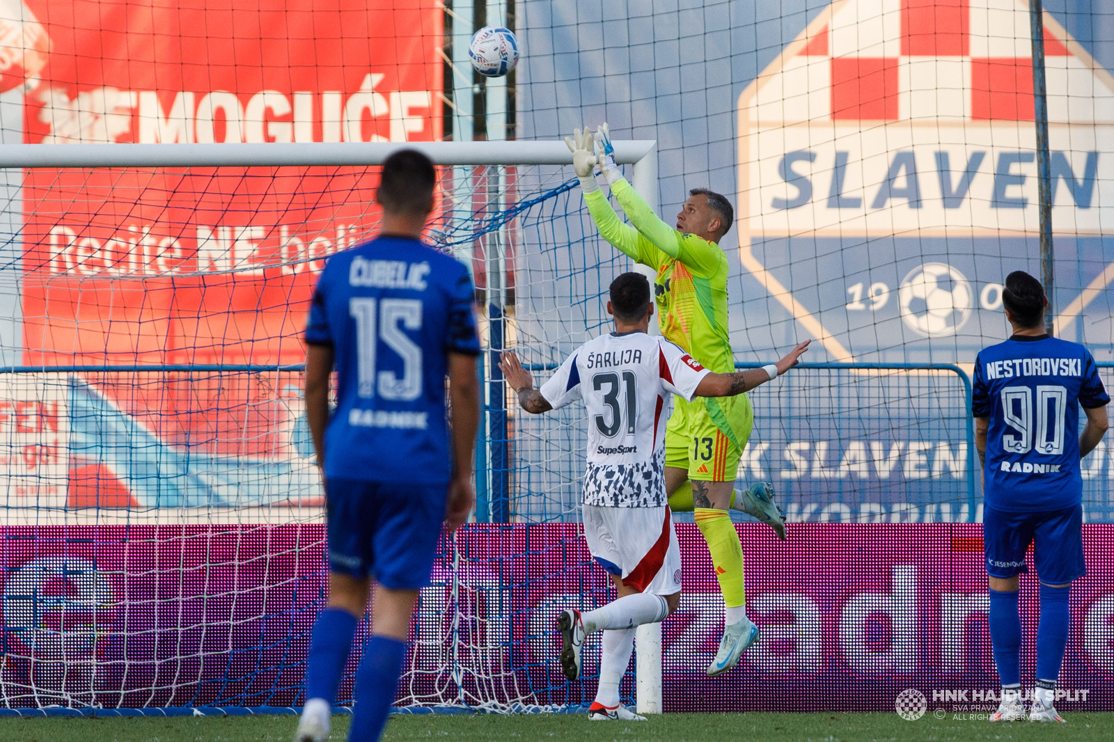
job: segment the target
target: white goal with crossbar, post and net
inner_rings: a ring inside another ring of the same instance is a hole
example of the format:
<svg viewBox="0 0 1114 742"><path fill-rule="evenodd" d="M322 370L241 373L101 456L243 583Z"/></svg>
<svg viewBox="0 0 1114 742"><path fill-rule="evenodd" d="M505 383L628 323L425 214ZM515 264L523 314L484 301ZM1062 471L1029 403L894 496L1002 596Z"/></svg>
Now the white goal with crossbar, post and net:
<svg viewBox="0 0 1114 742"><path fill-rule="evenodd" d="M614 144L656 209L655 143ZM22 211L7 238L21 251L8 270L20 274L23 338L0 402L57 416L0 430L6 460L29 460L32 449L40 457L26 471L0 471L3 535L27 545L27 558L13 551L19 563L7 565L22 582L9 579L4 597L28 606L9 612L8 666L27 671L16 683L0 678L0 705L300 703L291 678L321 605L324 564L314 555L324 534L297 400L299 338L322 258L377 231L368 168L401 148L443 166L431 242L469 264L485 296L483 520L551 523L549 551L578 556L531 557L525 585L561 573L557 584L580 587L540 606L531 596L524 608L517 587L496 577L501 562L524 555L458 547L482 537L479 528L443 540L419 599L400 703L579 703L582 684L555 672L531 632L548 631L557 598L589 608L607 599L579 533L561 525L579 520L583 421L576 411L516 417L495 358L517 345L527 362L551 368L605 326L600 296L634 266L600 244L560 167L570 162L563 141L434 141L0 147L0 168L23 170L22 202L0 205ZM179 576L180 589L168 587ZM90 624L32 615L35 585L57 579L72 582L77 597L49 611ZM189 611L169 611L179 604ZM213 615L197 607L209 605ZM25 613L27 625L13 627ZM79 628L63 636L49 627L58 622ZM148 637L170 646L164 634L178 637L177 650L144 656ZM588 647L589 664L593 653L598 646ZM639 629L636 668L638 709L659 712L661 625Z"/></svg>

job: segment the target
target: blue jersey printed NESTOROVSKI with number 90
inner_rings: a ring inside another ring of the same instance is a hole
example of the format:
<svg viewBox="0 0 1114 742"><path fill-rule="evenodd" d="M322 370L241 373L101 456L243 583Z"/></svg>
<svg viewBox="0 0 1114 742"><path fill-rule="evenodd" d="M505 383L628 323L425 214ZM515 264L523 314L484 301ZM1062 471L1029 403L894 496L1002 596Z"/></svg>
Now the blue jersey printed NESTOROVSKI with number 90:
<svg viewBox="0 0 1114 742"><path fill-rule="evenodd" d="M989 417L986 505L1005 511L1079 505L1079 406L1111 401L1078 343L1014 335L975 359L971 413Z"/></svg>

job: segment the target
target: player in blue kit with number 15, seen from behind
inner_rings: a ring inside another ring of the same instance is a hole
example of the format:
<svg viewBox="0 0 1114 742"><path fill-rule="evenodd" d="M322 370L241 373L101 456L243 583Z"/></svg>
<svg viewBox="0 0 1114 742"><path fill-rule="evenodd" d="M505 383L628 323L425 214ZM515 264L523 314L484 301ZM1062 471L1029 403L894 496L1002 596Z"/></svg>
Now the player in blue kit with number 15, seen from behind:
<svg viewBox="0 0 1114 742"><path fill-rule="evenodd" d="M383 163L379 236L329 260L305 331L305 407L325 482L329 602L313 626L297 742L329 739L330 715L374 579L349 739L379 739L398 689L418 590L442 520L472 509L479 341L468 270L420 242L433 164ZM336 369L336 409L329 378ZM446 420L449 378L452 423Z"/></svg>

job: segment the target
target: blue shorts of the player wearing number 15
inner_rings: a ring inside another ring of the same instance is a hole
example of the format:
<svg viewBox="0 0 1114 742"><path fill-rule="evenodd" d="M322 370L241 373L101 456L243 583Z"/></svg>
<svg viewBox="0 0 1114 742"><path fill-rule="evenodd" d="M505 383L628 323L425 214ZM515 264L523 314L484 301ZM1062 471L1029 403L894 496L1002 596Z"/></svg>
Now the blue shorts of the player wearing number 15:
<svg viewBox="0 0 1114 742"><path fill-rule="evenodd" d="M429 585L444 520L448 484L333 479L325 482L329 568L374 576L391 589Z"/></svg>

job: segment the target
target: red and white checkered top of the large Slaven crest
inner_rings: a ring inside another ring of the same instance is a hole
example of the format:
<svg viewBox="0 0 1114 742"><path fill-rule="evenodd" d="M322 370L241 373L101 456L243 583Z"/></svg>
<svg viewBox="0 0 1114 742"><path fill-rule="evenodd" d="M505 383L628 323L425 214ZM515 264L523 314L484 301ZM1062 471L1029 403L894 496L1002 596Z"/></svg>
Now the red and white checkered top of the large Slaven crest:
<svg viewBox="0 0 1114 742"><path fill-rule="evenodd" d="M1114 79L1047 14L1044 40L1049 120L1114 121ZM1022 0L837 0L802 41L768 70L760 120L1034 118Z"/></svg>

